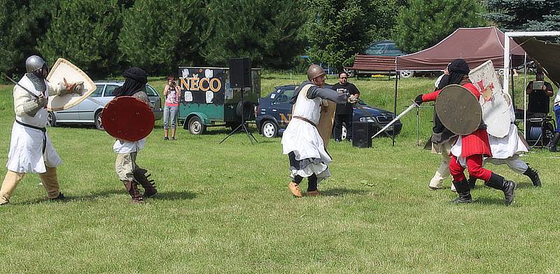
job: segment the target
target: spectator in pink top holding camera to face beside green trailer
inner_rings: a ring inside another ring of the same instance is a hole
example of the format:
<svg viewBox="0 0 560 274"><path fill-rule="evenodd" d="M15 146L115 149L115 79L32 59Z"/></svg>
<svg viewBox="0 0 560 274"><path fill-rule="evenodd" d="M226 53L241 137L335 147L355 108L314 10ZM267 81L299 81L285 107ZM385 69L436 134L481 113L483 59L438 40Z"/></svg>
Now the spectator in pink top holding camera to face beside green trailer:
<svg viewBox="0 0 560 274"><path fill-rule="evenodd" d="M177 115L179 115L179 101L181 101L181 89L175 78L169 76L167 85L163 89L165 96L165 107L163 108L163 140L169 140L169 124L171 124L171 139L175 138L177 129Z"/></svg>

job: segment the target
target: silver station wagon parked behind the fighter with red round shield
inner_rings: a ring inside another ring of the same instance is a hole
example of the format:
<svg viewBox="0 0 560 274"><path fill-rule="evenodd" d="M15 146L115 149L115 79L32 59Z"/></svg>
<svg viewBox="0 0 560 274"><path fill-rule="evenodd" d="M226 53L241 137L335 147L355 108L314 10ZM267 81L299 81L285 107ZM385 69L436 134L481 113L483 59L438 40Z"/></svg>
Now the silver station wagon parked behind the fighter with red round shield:
<svg viewBox="0 0 560 274"><path fill-rule="evenodd" d="M103 130L101 111L109 103L113 91L124 84L122 81L95 81L95 89L88 99L66 110L48 113L48 125L56 127L58 124L94 124L97 129ZM151 85L146 84L146 93L153 104L153 113L156 120L163 117L160 94Z"/></svg>

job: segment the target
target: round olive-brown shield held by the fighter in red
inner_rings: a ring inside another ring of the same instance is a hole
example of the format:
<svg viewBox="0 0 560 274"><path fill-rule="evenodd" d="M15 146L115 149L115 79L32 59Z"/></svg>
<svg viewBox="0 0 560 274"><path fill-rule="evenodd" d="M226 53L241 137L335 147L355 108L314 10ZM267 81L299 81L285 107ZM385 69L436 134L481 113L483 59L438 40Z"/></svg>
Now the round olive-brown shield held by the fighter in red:
<svg viewBox="0 0 560 274"><path fill-rule="evenodd" d="M435 112L454 134L472 134L482 121L482 108L474 94L460 85L444 87L435 99Z"/></svg>

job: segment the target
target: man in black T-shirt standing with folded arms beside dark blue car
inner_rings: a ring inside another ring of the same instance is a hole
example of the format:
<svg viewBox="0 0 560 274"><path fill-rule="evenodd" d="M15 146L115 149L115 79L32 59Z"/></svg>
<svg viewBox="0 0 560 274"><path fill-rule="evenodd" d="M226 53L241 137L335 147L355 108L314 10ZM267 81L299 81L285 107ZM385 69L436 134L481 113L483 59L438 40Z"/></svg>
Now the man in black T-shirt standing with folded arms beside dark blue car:
<svg viewBox="0 0 560 274"><path fill-rule="evenodd" d="M360 96L360 91L355 85L348 82L348 74L344 71L338 73L338 82L332 85L331 88L335 89L338 93L346 94L346 96L354 94L357 94L357 98ZM352 116L353 108L351 103L337 104L337 111L335 113L335 141L339 142L342 140L343 122L346 124L346 140L352 140Z"/></svg>

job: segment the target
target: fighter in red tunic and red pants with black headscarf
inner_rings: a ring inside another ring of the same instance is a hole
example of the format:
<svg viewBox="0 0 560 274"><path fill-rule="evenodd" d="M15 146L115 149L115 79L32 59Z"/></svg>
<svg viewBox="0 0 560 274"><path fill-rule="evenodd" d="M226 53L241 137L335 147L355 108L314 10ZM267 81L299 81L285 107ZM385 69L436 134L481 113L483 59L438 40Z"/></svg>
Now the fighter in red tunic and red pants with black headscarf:
<svg viewBox="0 0 560 274"><path fill-rule="evenodd" d="M449 84L458 84L468 89L477 99L480 92L472 85L468 79L470 69L463 59L455 59L449 64ZM416 96L416 103L426 101L435 101L441 90L429 94L420 94ZM460 102L457 102L460 103ZM454 200L456 203L470 203L470 187L467 178L465 178L465 166L472 178L484 180L486 186L503 191L505 196L505 204L510 206L514 199L515 182L505 180L502 176L489 171L482 167L483 157L491 157L492 152L486 133L484 122L481 123L479 129L468 135L461 135L457 139L455 145L451 148L451 161L449 161L449 172L453 176L453 185L457 189L458 198Z"/></svg>

